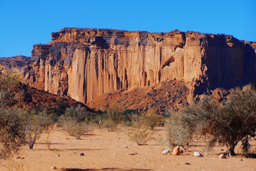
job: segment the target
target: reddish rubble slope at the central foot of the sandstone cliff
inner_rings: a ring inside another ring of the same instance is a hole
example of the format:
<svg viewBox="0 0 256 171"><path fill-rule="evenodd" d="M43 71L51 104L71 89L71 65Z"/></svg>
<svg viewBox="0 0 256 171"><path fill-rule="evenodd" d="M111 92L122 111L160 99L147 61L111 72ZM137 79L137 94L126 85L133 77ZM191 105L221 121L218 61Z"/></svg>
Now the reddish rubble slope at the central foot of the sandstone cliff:
<svg viewBox="0 0 256 171"><path fill-rule="evenodd" d="M153 109L163 113L167 109L178 110L182 104L187 104L189 89L183 80L165 80L145 87L137 87L130 91L110 91L87 105L90 108L105 110L107 104L120 104L127 109L138 112Z"/></svg>

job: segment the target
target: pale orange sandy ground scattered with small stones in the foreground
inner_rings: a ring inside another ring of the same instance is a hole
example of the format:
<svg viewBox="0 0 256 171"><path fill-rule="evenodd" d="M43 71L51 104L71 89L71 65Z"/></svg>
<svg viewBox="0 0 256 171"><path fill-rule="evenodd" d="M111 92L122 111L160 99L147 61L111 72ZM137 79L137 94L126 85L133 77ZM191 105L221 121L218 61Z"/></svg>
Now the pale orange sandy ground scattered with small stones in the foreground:
<svg viewBox="0 0 256 171"><path fill-rule="evenodd" d="M205 147L201 145L180 156L162 155L164 127L156 128L158 141L150 141L144 146L129 141L125 131L115 133L95 129L82 136L82 140L76 140L64 130L57 129L49 136L53 150L47 149L47 135L44 134L33 150L24 147L20 151L24 159L15 159L14 164L22 164L24 171L51 171L52 166L56 166L55 171L256 171L256 159L253 158L233 156L219 159L217 154L223 152L221 149L226 151L224 147L216 147L209 156L203 157L193 156L194 150L205 153ZM253 143L255 148L255 140ZM82 152L84 156L80 156ZM128 153L138 154L131 156ZM186 162L190 164L184 164ZM7 169L0 167L0 171Z"/></svg>

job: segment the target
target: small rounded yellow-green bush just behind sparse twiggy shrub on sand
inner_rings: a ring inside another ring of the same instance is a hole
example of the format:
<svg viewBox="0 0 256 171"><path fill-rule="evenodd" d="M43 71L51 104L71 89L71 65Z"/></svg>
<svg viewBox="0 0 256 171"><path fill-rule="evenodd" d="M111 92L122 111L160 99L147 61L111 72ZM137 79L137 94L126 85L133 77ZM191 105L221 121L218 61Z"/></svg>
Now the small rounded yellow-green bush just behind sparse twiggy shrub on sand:
<svg viewBox="0 0 256 171"><path fill-rule="evenodd" d="M163 120L162 116L158 115L154 110L148 110L146 113L143 113L141 117L143 123L151 129L160 126L160 123Z"/></svg>

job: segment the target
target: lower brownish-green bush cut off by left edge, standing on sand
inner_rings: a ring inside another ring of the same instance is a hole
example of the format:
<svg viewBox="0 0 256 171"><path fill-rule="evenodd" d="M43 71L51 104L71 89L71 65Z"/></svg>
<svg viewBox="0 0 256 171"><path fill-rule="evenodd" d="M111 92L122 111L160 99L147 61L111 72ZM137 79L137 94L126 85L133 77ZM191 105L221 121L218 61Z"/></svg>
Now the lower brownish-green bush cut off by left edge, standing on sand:
<svg viewBox="0 0 256 171"><path fill-rule="evenodd" d="M23 112L0 107L0 158L8 158L25 143L24 123Z"/></svg>

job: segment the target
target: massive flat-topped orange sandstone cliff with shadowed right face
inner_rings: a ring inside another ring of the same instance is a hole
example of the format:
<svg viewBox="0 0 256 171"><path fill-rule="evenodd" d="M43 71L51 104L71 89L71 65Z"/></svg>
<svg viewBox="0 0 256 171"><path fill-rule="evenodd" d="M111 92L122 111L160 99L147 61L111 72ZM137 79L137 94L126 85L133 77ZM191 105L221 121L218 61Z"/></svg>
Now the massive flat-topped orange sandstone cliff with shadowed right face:
<svg viewBox="0 0 256 171"><path fill-rule="evenodd" d="M88 103L109 91L183 80L192 95L256 80L255 42L233 36L65 28L34 45L30 86Z"/></svg>

